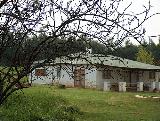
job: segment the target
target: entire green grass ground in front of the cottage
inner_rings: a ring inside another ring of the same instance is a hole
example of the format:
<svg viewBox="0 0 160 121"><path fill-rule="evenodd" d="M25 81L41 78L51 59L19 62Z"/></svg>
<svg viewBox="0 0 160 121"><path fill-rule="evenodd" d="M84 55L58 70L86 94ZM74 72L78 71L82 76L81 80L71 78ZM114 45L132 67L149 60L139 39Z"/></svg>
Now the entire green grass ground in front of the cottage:
<svg viewBox="0 0 160 121"><path fill-rule="evenodd" d="M35 116L49 119L64 112L62 110L64 108L59 107L71 106L78 107L81 112L80 115L74 115L73 120L160 121L160 99L135 97L137 94L160 96L160 93L119 93L92 89L58 89L48 86L31 87L24 89L23 92L24 94L20 92L13 94L0 107L1 119L31 120L32 118L27 117ZM66 116L66 113L64 115Z"/></svg>

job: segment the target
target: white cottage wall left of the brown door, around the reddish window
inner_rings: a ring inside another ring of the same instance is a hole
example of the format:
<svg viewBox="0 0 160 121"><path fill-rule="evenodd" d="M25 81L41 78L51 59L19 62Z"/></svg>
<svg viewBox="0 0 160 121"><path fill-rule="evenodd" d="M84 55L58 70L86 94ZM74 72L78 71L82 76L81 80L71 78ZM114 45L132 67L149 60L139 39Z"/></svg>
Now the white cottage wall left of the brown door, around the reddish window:
<svg viewBox="0 0 160 121"><path fill-rule="evenodd" d="M61 66L61 77L57 77L57 67L58 66L45 66L41 67L39 69L45 68L46 70L46 76L36 76L35 70L32 71L32 73L29 74L29 81L32 83L37 84L50 84L50 83L60 83L65 84L67 86L74 86L73 78L70 74L72 71L69 70L71 66Z"/></svg>

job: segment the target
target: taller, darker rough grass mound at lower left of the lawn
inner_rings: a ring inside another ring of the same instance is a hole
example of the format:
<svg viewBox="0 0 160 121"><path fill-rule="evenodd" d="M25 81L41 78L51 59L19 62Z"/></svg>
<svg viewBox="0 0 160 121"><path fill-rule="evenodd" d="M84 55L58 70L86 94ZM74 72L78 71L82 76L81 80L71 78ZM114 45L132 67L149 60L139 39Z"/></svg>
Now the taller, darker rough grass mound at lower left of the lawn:
<svg viewBox="0 0 160 121"><path fill-rule="evenodd" d="M61 96L51 94L52 89L24 89L11 95L0 108L4 121L74 121L80 114L78 107L70 105Z"/></svg>

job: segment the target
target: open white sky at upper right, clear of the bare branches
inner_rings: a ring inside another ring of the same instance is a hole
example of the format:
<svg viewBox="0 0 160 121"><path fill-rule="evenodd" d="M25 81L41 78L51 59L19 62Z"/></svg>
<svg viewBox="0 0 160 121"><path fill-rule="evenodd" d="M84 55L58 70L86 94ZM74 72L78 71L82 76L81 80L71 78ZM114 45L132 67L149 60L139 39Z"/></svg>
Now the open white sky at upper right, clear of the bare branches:
<svg viewBox="0 0 160 121"><path fill-rule="evenodd" d="M147 5L149 0L126 0L128 3L132 2L132 11L138 12L143 10L143 5ZM125 1L125 4L127 2ZM150 3L152 5L151 8L151 14L153 13L160 13L160 0L150 0ZM158 35L160 35L160 14L153 16L149 20L147 20L143 27L146 29L145 39L149 40L149 37L151 36L157 36L157 37L151 37L151 39L158 43Z"/></svg>

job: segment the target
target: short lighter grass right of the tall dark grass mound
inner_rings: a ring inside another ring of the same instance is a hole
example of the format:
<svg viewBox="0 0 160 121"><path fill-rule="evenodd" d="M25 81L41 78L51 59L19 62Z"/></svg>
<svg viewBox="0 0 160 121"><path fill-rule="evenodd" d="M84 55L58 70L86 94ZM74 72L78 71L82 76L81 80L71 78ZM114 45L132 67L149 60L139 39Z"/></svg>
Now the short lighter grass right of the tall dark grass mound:
<svg viewBox="0 0 160 121"><path fill-rule="evenodd" d="M119 93L88 89L58 91L78 105L86 121L160 121L159 99L138 99L135 95L160 96L158 93Z"/></svg>

